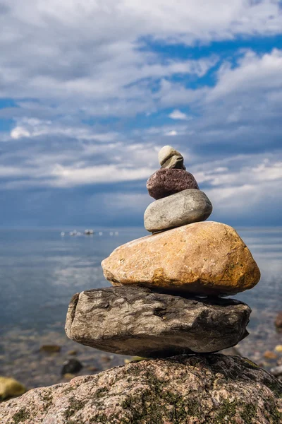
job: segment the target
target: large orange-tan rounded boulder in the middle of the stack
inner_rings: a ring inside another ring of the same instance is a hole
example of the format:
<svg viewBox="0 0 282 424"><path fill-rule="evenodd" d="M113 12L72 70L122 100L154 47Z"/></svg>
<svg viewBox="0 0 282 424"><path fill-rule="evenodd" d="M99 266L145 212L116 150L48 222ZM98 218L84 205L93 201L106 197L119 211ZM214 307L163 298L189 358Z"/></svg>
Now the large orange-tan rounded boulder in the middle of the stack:
<svg viewBox="0 0 282 424"><path fill-rule="evenodd" d="M234 295L254 287L259 268L229 225L202 222L142 237L118 247L102 261L113 285Z"/></svg>

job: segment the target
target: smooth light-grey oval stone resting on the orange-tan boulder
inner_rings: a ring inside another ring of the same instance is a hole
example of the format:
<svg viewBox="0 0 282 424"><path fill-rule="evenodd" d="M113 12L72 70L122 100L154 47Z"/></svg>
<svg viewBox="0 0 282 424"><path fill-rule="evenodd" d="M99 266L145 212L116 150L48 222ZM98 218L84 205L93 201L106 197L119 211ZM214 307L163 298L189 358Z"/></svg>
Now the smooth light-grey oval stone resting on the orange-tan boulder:
<svg viewBox="0 0 282 424"><path fill-rule="evenodd" d="M144 226L150 232L169 230L204 221L211 213L212 203L206 194L188 189L149 204L144 214Z"/></svg>

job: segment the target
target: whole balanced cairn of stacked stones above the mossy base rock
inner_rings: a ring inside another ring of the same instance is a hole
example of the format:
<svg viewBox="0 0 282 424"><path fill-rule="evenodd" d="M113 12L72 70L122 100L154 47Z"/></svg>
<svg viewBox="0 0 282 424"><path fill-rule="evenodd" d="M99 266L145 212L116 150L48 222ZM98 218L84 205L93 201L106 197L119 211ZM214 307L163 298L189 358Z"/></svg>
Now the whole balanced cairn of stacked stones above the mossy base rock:
<svg viewBox="0 0 282 424"><path fill-rule="evenodd" d="M156 199L145 211L152 235L104 261L114 287L73 296L69 338L102 351L145 358L214 353L245 338L250 307L229 295L260 278L250 250L228 225L206 221L212 204L170 146L149 178Z"/></svg>

